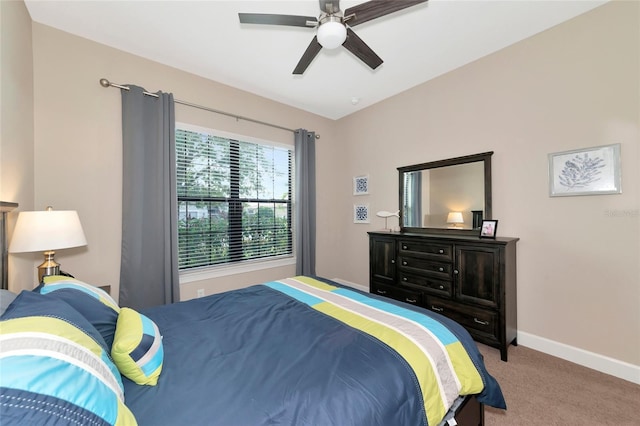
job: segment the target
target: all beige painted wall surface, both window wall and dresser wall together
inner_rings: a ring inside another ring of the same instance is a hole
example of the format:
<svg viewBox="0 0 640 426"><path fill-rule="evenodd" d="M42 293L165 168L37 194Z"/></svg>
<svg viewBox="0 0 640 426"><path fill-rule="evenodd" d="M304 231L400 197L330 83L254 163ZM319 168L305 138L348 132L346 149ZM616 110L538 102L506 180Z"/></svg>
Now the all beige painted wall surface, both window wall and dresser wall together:
<svg viewBox="0 0 640 426"><path fill-rule="evenodd" d="M317 273L367 283L366 231L381 229L384 221L353 224L353 204L395 211L398 166L494 151L498 233L521 238L521 342L538 336L640 366L638 9L636 2L607 4L336 122L34 24L35 169L25 158L25 168L15 173L35 179L24 191L34 191L37 208L79 211L89 246L60 253L63 267L86 281L117 286L120 95L99 86L101 77L315 130L322 135ZM2 12L4 33L5 7ZM17 45L28 45L28 35L12 31L23 40ZM2 68L4 83L4 53ZM17 105L20 99L9 100ZM177 118L241 134L265 131L180 107ZM7 145L20 150L20 143L5 141L3 127L3 152ZM548 197L548 153L610 143L622 145L623 194ZM25 149L20 152L28 157ZM353 176L365 174L370 194L354 197ZM290 275L289 269L272 272ZM252 274L198 285L212 292L261 277L269 279ZM194 293L193 285L185 286L185 298Z"/></svg>

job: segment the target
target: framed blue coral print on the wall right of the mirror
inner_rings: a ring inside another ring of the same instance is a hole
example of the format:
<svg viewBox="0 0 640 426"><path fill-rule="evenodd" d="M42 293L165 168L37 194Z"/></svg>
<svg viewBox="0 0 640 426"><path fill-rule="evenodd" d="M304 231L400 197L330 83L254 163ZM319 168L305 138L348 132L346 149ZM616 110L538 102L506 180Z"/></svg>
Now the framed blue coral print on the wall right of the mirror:
<svg viewBox="0 0 640 426"><path fill-rule="evenodd" d="M549 154L549 196L620 194L620 144Z"/></svg>

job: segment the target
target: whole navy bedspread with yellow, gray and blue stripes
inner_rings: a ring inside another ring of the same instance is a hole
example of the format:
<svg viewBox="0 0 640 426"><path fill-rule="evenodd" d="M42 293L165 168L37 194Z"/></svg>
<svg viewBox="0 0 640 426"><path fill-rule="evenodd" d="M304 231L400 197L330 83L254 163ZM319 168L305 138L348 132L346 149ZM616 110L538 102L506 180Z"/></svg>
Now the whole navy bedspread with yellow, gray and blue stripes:
<svg viewBox="0 0 640 426"><path fill-rule="evenodd" d="M140 426L436 426L460 394L504 405L459 324L320 277L142 313L165 357L156 386L123 378Z"/></svg>

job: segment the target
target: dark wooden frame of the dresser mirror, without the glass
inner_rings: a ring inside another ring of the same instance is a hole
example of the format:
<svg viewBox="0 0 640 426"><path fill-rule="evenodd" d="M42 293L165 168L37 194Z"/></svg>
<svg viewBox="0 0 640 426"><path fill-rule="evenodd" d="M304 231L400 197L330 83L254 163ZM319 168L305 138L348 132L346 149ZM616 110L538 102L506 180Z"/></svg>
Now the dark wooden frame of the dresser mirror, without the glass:
<svg viewBox="0 0 640 426"><path fill-rule="evenodd" d="M477 235L477 229L451 229L451 228L418 228L404 226L404 211L402 206L402 195L404 194L404 173L416 172L419 170L436 169L439 167L456 166L459 164L484 163L484 214L483 219L492 219L491 216L491 156L493 151L480 154L465 155L463 157L448 158L446 160L431 161L428 163L414 164L411 166L398 167L398 207L400 209L400 232L403 233L431 233L431 234L456 234L456 235Z"/></svg>

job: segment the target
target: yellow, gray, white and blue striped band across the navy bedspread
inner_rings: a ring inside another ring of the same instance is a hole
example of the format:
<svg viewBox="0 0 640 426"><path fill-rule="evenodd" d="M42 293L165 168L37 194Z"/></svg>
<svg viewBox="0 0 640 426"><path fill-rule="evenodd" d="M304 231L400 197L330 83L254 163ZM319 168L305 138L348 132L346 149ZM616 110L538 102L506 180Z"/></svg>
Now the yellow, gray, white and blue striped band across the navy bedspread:
<svg viewBox="0 0 640 426"><path fill-rule="evenodd" d="M311 277L264 285L323 312L393 348L411 366L428 424L438 424L459 395L484 383L460 340L437 319Z"/></svg>

